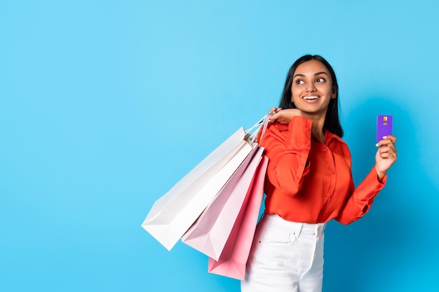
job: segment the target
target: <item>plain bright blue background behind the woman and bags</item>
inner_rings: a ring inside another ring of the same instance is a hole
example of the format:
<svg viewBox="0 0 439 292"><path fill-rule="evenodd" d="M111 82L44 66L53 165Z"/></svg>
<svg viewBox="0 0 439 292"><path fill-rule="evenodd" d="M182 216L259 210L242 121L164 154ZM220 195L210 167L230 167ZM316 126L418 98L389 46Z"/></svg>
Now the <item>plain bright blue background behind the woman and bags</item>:
<svg viewBox="0 0 439 292"><path fill-rule="evenodd" d="M438 1L1 1L0 291L239 291L140 225L297 57L340 86L356 183L377 114L398 162L362 220L326 230L324 291L439 289Z"/></svg>

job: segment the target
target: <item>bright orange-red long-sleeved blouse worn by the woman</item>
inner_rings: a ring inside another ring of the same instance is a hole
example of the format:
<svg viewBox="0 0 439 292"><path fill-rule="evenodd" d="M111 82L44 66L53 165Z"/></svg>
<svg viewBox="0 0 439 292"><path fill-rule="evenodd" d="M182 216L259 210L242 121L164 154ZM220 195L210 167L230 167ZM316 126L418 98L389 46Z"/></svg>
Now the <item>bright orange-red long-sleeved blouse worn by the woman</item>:
<svg viewBox="0 0 439 292"><path fill-rule="evenodd" d="M311 134L312 121L295 116L289 125L270 123L261 146L269 158L265 213L288 221L349 224L364 216L384 187L374 168L355 188L351 153L337 135L325 130L326 143Z"/></svg>

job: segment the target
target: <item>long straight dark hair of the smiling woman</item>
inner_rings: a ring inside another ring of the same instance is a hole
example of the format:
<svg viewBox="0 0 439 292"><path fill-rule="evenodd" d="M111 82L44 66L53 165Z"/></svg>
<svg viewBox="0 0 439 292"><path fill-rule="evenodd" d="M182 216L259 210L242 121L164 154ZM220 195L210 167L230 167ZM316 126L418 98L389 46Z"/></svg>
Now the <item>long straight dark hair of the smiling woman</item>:
<svg viewBox="0 0 439 292"><path fill-rule="evenodd" d="M297 67L299 67L299 65L303 62L310 60L317 60L325 65L325 67L331 74L332 88L334 88L337 92L335 99L331 99L329 105L327 106L325 125L323 125L323 127L325 127L325 129L327 129L331 133L336 134L338 137L343 137L343 128L339 120L339 85L337 83L337 77L335 76L334 69L332 69L331 65L325 60L325 58L321 57L320 55L304 55L303 57L299 57L299 59L297 59L296 62L292 64L290 71L288 71L288 76L285 81L285 87L283 88L281 104L279 104L279 107L282 109L297 109L295 104L292 102L292 78L295 74Z"/></svg>

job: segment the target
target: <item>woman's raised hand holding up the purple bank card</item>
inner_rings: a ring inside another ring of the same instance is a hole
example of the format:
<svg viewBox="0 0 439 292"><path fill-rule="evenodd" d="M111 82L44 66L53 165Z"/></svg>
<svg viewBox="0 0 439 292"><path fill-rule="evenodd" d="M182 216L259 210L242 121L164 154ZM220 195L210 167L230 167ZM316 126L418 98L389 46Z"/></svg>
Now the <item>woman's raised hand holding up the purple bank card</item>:
<svg viewBox="0 0 439 292"><path fill-rule="evenodd" d="M386 136L377 143L378 151L375 155L375 169L381 181L389 168L396 162L396 137Z"/></svg>

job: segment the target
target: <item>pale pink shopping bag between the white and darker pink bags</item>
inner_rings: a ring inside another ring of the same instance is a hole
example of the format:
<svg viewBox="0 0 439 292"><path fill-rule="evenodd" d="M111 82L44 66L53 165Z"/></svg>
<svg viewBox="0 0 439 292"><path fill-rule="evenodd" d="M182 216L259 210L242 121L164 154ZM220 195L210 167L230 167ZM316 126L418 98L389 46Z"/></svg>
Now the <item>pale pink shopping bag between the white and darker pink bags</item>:
<svg viewBox="0 0 439 292"><path fill-rule="evenodd" d="M182 237L182 242L219 260L239 211L248 197L264 148L255 146L252 153L227 181L215 199Z"/></svg>

